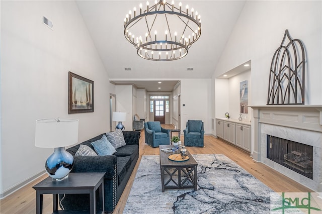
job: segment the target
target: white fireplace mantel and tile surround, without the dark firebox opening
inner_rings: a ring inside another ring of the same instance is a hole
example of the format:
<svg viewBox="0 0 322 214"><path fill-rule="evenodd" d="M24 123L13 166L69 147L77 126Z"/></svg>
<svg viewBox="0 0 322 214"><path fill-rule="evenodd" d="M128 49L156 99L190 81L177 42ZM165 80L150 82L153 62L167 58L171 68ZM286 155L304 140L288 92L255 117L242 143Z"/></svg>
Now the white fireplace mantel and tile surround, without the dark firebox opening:
<svg viewBox="0 0 322 214"><path fill-rule="evenodd" d="M314 191L322 191L322 169L320 169L322 164L322 105L250 105L250 107L253 109L253 159L271 166ZM287 140L304 138L308 144L313 144L316 157L315 162L313 161L313 170L315 170L313 181L267 160L265 138L266 134L271 132L278 132L281 136L277 137L290 138L284 138Z"/></svg>

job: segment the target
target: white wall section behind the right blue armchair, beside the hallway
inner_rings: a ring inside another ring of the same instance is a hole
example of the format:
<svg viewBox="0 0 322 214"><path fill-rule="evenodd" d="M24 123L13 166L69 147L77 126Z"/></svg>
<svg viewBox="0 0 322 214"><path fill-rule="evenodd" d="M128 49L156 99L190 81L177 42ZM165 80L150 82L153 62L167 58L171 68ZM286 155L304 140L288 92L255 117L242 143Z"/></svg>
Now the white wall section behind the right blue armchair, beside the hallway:
<svg viewBox="0 0 322 214"><path fill-rule="evenodd" d="M205 134L211 134L211 79L181 79L180 102L181 130L188 120L201 120Z"/></svg>

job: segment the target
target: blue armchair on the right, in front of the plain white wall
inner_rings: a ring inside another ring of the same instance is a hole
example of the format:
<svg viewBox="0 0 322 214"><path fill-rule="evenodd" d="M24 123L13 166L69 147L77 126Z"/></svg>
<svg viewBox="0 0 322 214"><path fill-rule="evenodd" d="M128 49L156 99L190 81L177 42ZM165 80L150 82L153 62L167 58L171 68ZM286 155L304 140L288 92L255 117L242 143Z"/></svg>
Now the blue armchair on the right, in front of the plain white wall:
<svg viewBox="0 0 322 214"><path fill-rule="evenodd" d="M183 133L185 136L185 146L203 147L203 135L205 131L202 121L188 120Z"/></svg>

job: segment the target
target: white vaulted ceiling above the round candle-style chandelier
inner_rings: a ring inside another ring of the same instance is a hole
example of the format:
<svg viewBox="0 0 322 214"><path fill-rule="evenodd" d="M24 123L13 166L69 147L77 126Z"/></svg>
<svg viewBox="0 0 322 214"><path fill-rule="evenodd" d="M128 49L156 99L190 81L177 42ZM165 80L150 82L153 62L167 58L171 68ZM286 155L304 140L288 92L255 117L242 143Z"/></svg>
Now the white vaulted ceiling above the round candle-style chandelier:
<svg viewBox="0 0 322 214"><path fill-rule="evenodd" d="M154 3L149 2L150 5ZM145 5L146 1L76 1L110 80L117 83L121 80L212 77L246 1L181 2L183 7L189 5L201 15L201 36L184 58L156 62L139 57L123 34L125 15L134 7L138 8L140 3ZM179 5L179 1L175 4ZM193 70L188 71L187 68Z"/></svg>

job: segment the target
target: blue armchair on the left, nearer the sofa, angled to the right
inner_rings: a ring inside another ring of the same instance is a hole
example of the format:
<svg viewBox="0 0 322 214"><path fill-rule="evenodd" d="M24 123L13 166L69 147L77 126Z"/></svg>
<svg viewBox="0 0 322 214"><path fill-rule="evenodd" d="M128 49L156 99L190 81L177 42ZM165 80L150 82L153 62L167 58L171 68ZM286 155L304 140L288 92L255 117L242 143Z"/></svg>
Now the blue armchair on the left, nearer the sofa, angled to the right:
<svg viewBox="0 0 322 214"><path fill-rule="evenodd" d="M144 123L145 143L151 147L170 144L170 129L161 127L158 121L149 121Z"/></svg>

